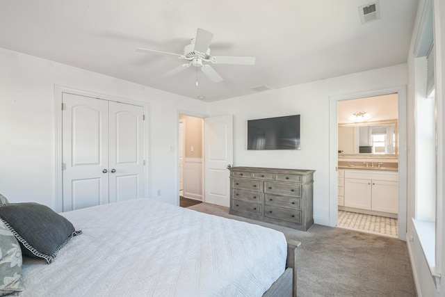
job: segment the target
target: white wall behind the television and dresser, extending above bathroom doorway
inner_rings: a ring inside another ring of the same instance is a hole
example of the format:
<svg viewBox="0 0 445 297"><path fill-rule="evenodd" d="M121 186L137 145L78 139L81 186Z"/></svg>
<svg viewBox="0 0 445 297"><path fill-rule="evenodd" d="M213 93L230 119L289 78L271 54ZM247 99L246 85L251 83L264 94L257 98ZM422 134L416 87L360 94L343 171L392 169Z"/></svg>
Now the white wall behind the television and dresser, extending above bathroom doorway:
<svg viewBox="0 0 445 297"><path fill-rule="evenodd" d="M316 170L314 221L321 225L329 225L330 96L406 84L407 65L395 65L214 102L210 105L209 113L234 114L234 166ZM301 115L301 150L247 150L247 120L292 114Z"/></svg>

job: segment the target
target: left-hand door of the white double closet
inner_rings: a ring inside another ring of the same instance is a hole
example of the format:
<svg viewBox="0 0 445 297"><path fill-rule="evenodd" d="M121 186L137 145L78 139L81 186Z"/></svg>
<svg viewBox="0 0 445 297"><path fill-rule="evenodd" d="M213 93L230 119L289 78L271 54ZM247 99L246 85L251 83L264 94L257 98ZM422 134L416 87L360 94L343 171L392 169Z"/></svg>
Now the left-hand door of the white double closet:
<svg viewBox="0 0 445 297"><path fill-rule="evenodd" d="M63 93L63 211L108 203L108 102Z"/></svg>

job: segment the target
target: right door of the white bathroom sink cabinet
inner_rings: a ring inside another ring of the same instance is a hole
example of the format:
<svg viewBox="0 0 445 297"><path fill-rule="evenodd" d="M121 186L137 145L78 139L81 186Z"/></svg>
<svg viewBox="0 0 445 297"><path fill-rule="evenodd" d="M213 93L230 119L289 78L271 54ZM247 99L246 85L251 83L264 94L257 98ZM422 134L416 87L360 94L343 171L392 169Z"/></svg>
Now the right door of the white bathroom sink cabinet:
<svg viewBox="0 0 445 297"><path fill-rule="evenodd" d="M398 214L398 182L373 180L371 209Z"/></svg>

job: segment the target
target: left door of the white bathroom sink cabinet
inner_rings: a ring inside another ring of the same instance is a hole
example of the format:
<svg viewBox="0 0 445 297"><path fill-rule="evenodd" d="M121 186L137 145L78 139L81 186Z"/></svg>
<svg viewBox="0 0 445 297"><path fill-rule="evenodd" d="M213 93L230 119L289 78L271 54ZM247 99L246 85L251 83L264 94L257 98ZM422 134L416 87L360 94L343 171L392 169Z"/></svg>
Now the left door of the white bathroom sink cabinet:
<svg viewBox="0 0 445 297"><path fill-rule="evenodd" d="M371 179L345 179L345 207L371 209Z"/></svg>

